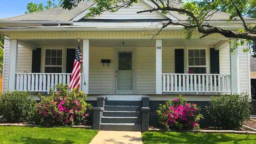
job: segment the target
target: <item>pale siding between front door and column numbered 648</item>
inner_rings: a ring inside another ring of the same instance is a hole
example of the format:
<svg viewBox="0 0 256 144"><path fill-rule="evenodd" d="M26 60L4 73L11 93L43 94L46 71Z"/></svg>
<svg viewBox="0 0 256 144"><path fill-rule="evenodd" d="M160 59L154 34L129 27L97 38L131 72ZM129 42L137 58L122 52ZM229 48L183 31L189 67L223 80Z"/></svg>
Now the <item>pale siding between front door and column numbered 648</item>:
<svg viewBox="0 0 256 144"><path fill-rule="evenodd" d="M137 52L137 94L156 94L156 50L139 47Z"/></svg>

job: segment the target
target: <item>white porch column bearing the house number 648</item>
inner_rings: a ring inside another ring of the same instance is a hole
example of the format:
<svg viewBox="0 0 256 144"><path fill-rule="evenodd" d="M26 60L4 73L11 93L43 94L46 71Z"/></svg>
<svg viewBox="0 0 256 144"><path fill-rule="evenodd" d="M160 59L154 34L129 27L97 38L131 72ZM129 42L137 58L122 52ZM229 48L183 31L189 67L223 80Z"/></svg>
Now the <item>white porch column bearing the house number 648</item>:
<svg viewBox="0 0 256 144"><path fill-rule="evenodd" d="M156 94L162 94L162 40L156 40Z"/></svg>

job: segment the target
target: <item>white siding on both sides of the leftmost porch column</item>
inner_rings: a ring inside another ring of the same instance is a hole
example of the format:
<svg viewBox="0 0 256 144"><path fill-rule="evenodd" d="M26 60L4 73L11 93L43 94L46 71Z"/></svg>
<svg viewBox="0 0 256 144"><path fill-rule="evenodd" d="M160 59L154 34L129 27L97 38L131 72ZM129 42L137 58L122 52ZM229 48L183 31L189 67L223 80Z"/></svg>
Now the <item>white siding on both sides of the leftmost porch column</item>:
<svg viewBox="0 0 256 144"><path fill-rule="evenodd" d="M4 44L4 71L3 71L3 90L8 90L8 76L9 76L9 53L10 41L5 40ZM18 45L18 57L17 57L17 72L31 72L32 69L32 50Z"/></svg>

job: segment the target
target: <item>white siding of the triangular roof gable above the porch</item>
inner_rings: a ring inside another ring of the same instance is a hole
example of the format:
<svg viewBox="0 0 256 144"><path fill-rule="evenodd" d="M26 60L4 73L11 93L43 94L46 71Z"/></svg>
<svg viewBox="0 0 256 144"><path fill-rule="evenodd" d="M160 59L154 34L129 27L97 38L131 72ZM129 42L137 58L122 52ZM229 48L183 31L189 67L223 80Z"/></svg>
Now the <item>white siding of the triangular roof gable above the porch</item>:
<svg viewBox="0 0 256 144"><path fill-rule="evenodd" d="M166 17L160 14L159 12L143 12L141 14L137 14L137 12L139 11L148 9L151 8L143 2L139 1L137 4L133 4L133 6L130 8L120 8L117 12L114 13L103 12L100 16L95 16L94 19L166 19Z"/></svg>

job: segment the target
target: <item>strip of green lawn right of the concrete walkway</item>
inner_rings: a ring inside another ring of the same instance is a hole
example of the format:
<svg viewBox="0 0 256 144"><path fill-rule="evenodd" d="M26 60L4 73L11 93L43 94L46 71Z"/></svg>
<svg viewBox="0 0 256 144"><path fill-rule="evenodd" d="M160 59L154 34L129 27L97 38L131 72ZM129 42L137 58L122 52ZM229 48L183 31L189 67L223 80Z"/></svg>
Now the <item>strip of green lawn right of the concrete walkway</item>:
<svg viewBox="0 0 256 144"><path fill-rule="evenodd" d="M191 132L144 132L143 144L255 144L256 135Z"/></svg>

